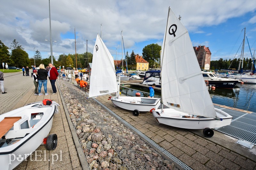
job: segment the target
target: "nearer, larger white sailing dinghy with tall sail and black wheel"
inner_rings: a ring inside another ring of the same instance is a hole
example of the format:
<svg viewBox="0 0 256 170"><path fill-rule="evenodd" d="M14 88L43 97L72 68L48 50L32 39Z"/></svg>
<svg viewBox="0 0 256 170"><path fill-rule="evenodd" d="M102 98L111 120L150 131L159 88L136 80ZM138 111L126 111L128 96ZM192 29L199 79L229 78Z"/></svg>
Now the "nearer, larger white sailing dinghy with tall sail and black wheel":
<svg viewBox="0 0 256 170"><path fill-rule="evenodd" d="M161 124L185 129L204 129L231 123L232 116L213 106L205 86L187 29L169 7L161 51L162 108L152 110ZM163 104L169 108L163 109Z"/></svg>

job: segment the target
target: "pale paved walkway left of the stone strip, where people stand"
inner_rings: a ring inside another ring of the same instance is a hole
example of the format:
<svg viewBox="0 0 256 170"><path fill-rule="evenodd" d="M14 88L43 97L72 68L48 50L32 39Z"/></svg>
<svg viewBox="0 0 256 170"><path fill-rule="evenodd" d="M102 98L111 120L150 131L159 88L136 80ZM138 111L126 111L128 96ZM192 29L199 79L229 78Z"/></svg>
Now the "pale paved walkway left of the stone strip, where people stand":
<svg viewBox="0 0 256 170"><path fill-rule="evenodd" d="M5 73L4 90L7 93L0 94L1 114L28 103L43 101L43 99L51 99L59 103L59 113L54 115L50 131L50 134L57 134L58 145L53 151L46 150L45 145L39 146L36 152L33 152L27 160L24 160L15 169L82 169L58 87L57 95L51 95L51 83L47 81L48 96L34 96L34 89L31 76L23 76L20 73ZM44 92L43 87L41 91Z"/></svg>

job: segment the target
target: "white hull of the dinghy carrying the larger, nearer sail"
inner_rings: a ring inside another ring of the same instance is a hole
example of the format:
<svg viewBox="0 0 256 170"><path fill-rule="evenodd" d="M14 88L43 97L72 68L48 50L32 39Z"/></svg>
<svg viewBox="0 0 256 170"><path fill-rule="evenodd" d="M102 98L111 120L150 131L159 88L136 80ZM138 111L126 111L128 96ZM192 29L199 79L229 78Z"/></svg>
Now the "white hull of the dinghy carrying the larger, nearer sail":
<svg viewBox="0 0 256 170"><path fill-rule="evenodd" d="M156 118L157 122L161 124L184 129L217 128L231 123L231 119L233 118L232 116L220 109L215 108L215 111L217 116L222 118L222 121L206 117L185 118L184 116L189 115L171 108L164 109L164 113L161 113L161 109L153 110L152 114Z"/></svg>

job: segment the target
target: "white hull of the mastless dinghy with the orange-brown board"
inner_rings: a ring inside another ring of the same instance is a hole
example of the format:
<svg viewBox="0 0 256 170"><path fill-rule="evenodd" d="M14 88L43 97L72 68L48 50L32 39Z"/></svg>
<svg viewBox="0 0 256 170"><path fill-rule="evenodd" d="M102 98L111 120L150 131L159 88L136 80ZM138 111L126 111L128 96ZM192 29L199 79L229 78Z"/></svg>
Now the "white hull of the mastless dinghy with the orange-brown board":
<svg viewBox="0 0 256 170"><path fill-rule="evenodd" d="M32 113L34 113L36 108L33 108L33 106L36 104L38 103L33 103L5 113L0 116L0 120L3 120L4 117L16 116L22 113L22 110L26 110L26 112L31 110ZM21 131L29 131L28 134L12 145L0 148L1 169L13 169L18 166L43 143L44 138L49 134L52 128L55 106L49 108L37 108L37 110L38 112L44 113L39 122L35 124L33 128L20 129ZM22 116L23 114L20 115ZM16 132L19 133L18 131L20 130L17 130ZM6 136L8 136L8 133L12 135L12 131L8 131ZM18 159L19 155L21 155L20 160Z"/></svg>

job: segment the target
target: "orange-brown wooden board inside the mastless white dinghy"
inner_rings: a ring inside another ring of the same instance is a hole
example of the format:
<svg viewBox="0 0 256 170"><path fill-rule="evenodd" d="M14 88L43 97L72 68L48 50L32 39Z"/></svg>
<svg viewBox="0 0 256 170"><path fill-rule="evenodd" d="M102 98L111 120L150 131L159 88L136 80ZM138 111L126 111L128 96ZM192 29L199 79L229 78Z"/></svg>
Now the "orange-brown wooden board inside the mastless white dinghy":
<svg viewBox="0 0 256 170"><path fill-rule="evenodd" d="M0 138L2 138L4 134L12 128L13 124L20 119L21 117L4 117L0 122Z"/></svg>

